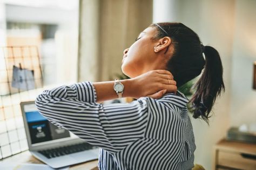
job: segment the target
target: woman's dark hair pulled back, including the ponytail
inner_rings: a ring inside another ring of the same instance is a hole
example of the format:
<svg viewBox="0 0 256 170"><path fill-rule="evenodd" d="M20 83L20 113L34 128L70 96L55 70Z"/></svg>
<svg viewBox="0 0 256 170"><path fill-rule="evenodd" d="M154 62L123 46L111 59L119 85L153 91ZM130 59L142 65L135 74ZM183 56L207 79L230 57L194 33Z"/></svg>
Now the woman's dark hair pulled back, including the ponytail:
<svg viewBox="0 0 256 170"><path fill-rule="evenodd" d="M199 76L204 69L194 86L196 92L190 100L190 107L194 118L201 118L208 124L216 97L221 91L225 91L223 66L218 51L212 46L203 46L197 33L182 23L158 23L150 26L157 29L153 39L165 36L172 39L174 53L167 63L167 70L173 74L177 87Z"/></svg>

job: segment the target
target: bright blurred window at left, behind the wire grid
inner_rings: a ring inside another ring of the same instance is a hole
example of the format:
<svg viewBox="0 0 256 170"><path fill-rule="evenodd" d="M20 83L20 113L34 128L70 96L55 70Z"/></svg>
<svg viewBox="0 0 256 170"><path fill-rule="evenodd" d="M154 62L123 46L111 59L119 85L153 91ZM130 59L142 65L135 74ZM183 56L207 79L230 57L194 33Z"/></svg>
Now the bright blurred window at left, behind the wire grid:
<svg viewBox="0 0 256 170"><path fill-rule="evenodd" d="M34 100L41 87L77 81L79 8L78 0L10 0L1 2L0 8L0 159L4 159L28 149L19 103ZM35 89L12 85L14 66L33 70Z"/></svg>

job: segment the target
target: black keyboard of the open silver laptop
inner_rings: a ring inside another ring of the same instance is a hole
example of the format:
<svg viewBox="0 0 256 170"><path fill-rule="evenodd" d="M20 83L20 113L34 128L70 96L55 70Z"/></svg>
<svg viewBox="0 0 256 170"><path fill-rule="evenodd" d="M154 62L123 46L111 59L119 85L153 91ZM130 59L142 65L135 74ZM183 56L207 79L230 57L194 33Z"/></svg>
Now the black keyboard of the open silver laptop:
<svg viewBox="0 0 256 170"><path fill-rule="evenodd" d="M42 150L42 151L38 151L38 152L43 154L46 158L50 159L50 158L56 158L56 157L60 157L62 155L81 152L81 151L94 149L94 148L96 148L96 147L83 142L80 144L62 146L62 147L53 148L53 149L46 149L46 150Z"/></svg>

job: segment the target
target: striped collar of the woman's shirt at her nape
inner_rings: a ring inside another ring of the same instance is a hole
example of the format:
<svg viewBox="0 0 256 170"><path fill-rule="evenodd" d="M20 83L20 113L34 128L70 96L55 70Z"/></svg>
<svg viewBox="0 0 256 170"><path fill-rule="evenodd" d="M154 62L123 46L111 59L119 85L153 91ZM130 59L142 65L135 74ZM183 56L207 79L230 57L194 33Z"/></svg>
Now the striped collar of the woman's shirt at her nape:
<svg viewBox="0 0 256 170"><path fill-rule="evenodd" d="M188 103L187 97L181 93L180 91L177 91L177 93L167 93L162 98L156 99L158 101L164 101L173 105L176 105L178 107L186 107Z"/></svg>

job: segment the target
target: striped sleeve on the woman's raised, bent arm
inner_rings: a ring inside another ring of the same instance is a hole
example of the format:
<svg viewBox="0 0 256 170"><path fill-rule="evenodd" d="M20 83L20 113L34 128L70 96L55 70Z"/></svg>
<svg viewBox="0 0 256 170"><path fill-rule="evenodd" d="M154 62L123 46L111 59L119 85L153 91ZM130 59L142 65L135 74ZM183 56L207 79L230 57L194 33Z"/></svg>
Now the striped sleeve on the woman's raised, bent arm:
<svg viewBox="0 0 256 170"><path fill-rule="evenodd" d="M96 103L90 81L45 90L36 99L39 112L51 123L115 153L142 137L146 128L149 98L132 103Z"/></svg>

